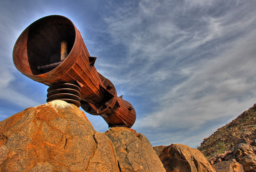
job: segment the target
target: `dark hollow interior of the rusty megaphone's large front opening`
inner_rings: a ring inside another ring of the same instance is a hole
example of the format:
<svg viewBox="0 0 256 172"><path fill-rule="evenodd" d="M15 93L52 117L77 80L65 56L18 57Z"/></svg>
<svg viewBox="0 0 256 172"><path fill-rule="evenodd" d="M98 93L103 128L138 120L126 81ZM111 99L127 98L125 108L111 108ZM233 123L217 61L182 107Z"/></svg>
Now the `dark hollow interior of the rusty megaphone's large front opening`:
<svg viewBox="0 0 256 172"><path fill-rule="evenodd" d="M53 15L36 20L22 32L14 45L14 65L25 75L47 73L56 66L44 69L38 69L38 66L60 62L61 43L67 42L68 55L75 38L76 29L66 17Z"/></svg>

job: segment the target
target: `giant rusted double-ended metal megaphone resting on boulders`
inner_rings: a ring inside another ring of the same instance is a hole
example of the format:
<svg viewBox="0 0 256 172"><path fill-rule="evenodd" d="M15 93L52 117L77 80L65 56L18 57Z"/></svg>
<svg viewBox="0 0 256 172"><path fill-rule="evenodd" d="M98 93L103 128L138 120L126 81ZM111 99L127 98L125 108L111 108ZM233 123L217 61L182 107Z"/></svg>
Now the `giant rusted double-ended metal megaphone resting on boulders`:
<svg viewBox="0 0 256 172"><path fill-rule="evenodd" d="M68 99L65 101L78 107L81 103L90 114L101 115L109 127L132 127L135 110L129 102L116 96L114 84L94 67L95 60L96 57L89 55L76 26L58 15L32 23L13 48L14 65L28 78L48 86L68 83L80 89L78 95L70 91L69 86L64 90L55 88L52 95L48 91L47 101ZM80 103L76 97L81 99Z"/></svg>

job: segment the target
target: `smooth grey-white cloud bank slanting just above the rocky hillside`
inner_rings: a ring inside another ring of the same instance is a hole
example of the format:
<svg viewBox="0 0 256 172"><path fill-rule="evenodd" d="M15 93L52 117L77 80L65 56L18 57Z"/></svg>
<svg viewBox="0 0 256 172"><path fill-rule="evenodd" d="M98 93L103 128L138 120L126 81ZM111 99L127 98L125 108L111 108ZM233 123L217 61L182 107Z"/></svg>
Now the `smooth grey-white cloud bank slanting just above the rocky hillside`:
<svg viewBox="0 0 256 172"><path fill-rule="evenodd" d="M159 132L180 129L195 137L201 133L193 133L203 130L207 122L224 124L223 120L234 119L247 110L256 97L255 34L252 32L232 49L198 66L189 79L158 97L160 109L139 119L136 127Z"/></svg>

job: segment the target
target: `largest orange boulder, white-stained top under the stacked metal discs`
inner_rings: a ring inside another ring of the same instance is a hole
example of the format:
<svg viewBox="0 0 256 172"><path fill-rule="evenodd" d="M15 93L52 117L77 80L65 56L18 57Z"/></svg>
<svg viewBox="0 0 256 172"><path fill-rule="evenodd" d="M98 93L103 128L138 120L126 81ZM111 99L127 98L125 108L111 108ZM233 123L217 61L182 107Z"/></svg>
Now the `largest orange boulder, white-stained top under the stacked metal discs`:
<svg viewBox="0 0 256 172"><path fill-rule="evenodd" d="M75 105L55 100L0 122L0 171L119 171L114 145Z"/></svg>

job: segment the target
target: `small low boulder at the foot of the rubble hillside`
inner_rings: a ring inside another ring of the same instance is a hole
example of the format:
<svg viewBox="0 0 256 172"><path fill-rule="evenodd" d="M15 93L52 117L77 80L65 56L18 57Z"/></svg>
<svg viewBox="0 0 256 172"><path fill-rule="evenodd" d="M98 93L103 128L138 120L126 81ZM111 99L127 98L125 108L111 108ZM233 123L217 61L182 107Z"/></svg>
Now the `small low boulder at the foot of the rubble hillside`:
<svg viewBox="0 0 256 172"><path fill-rule="evenodd" d="M244 172L244 168L238 162L222 161L212 165L217 172Z"/></svg>

